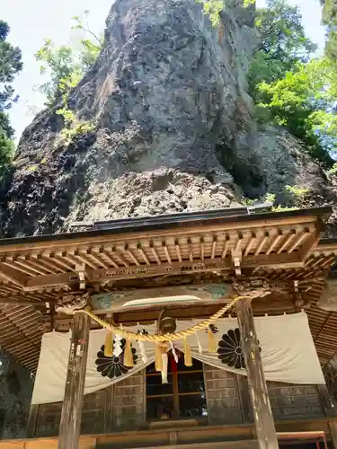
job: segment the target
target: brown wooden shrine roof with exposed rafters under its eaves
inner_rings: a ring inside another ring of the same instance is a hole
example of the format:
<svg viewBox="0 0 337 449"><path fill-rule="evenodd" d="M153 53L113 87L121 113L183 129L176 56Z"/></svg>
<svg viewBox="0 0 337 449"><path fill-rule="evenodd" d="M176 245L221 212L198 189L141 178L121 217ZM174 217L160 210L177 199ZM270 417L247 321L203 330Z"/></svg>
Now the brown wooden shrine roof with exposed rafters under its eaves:
<svg viewBox="0 0 337 449"><path fill-rule="evenodd" d="M0 345L35 371L42 332L67 330L55 304L64 293L88 286L110 291L194 282L193 277L262 277L289 286L289 295L267 296L254 313L293 313L301 305L297 281L322 362L334 356L337 314L316 307L337 254L337 242L321 241L330 207L242 214L228 209L117 220L106 228L0 241ZM287 286L285 287L287 291ZM177 317L203 316L218 307L176 309ZM216 312L217 309L214 310ZM142 315L154 320L155 312ZM139 321L117 313L116 321Z"/></svg>

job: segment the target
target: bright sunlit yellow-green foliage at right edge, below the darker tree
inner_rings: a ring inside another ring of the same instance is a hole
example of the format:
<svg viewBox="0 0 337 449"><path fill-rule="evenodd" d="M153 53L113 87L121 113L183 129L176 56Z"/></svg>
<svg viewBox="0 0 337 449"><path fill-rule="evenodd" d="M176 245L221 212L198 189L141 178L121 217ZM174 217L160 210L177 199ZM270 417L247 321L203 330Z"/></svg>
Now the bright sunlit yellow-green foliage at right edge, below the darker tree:
<svg viewBox="0 0 337 449"><path fill-rule="evenodd" d="M297 63L295 72L258 85L259 106L301 139L316 159L331 164L328 150L337 149L337 118L327 105L333 102L333 71L326 59Z"/></svg>

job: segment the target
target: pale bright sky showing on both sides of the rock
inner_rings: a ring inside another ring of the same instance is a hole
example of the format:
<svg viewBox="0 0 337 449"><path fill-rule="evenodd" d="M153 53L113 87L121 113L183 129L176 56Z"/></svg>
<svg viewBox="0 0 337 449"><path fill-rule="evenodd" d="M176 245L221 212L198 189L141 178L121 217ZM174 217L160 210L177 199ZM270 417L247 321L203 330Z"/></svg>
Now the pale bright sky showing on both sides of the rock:
<svg viewBox="0 0 337 449"><path fill-rule="evenodd" d="M320 25L319 0L288 2L300 7L306 33L322 51L324 29ZM39 74L40 64L35 61L34 54L43 44L44 38L54 40L57 45L74 42L78 31L71 31L71 17L86 9L90 10L92 30L102 32L111 4L112 0L0 0L0 19L11 26L9 40L22 49L23 57L22 73L13 84L20 99L10 111L16 138L20 137L22 130L43 105L43 96L36 92L36 85L41 84L43 79ZM257 0L257 4L263 6L265 0Z"/></svg>

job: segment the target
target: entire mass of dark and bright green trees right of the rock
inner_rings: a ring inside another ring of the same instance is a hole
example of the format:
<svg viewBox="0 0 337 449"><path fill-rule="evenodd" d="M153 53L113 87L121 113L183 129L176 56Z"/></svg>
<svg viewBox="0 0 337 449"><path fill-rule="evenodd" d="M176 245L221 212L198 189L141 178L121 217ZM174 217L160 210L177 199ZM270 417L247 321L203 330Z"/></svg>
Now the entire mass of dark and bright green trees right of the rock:
<svg viewBox="0 0 337 449"><path fill-rule="evenodd" d="M330 38L336 18L337 0L325 0ZM268 0L256 26L262 40L248 76L254 118L288 128L309 154L331 166L330 153L337 150L337 64L331 57L310 60L315 45L306 38L298 8L286 0Z"/></svg>

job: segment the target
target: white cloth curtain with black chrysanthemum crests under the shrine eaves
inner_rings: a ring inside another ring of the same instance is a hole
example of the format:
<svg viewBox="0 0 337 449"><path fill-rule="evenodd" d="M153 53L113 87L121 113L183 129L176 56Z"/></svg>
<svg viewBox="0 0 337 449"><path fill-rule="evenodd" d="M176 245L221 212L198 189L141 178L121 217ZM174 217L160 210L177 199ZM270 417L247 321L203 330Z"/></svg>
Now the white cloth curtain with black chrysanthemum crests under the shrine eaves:
<svg viewBox="0 0 337 449"><path fill-rule="evenodd" d="M177 330L190 328L197 322L200 322L200 320L179 321ZM267 380L285 383L324 383L324 375L315 351L306 313L257 317L254 318L254 322L260 342L263 370ZM215 329L214 337L217 348L223 349L225 345L227 348L228 346L230 347L232 355L233 351L240 353L240 348L235 348L235 343L231 342L232 340L230 339L230 336L234 336L233 332L235 329L238 328L237 320L231 318L222 319L217 321L215 326L217 329ZM153 334L156 326L155 324L150 326L139 325L127 329L132 331L146 330ZM147 357L146 363L142 361L140 348L135 343L134 348L137 350L136 365L127 374L119 377L113 377L112 379L103 377L97 371L95 362L97 353L104 344L106 333L106 330L92 330L90 332L84 394L96 392L113 383L117 383L121 379L125 379L129 375L144 369L146 365L149 365L155 359L155 345L153 343L145 343L144 345ZM33 404L63 401L70 337L70 332L66 334L51 332L43 335L40 362L31 400ZM208 352L207 330L200 330L198 338L202 348L201 354L197 336L192 335L188 339L191 345L192 357L232 373L246 374L244 368L235 368L235 366L223 363L223 361L226 362L228 360L232 363L233 357L226 357L226 354L222 354L220 355L222 359L220 359L217 353ZM174 346L182 350L183 341L175 341ZM243 359L236 357L235 360L237 365L240 365Z"/></svg>

